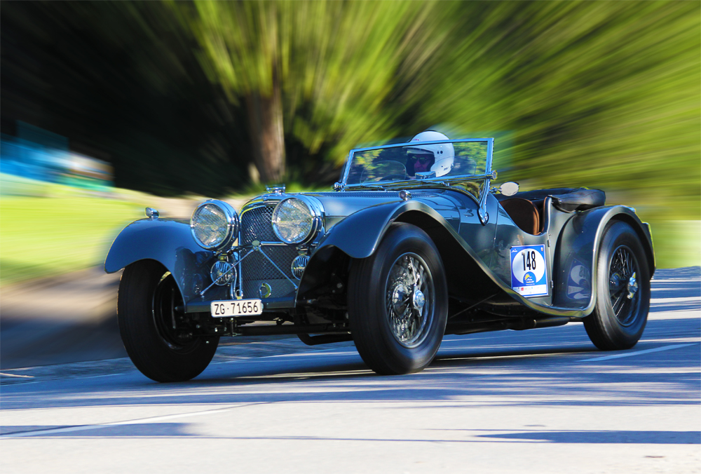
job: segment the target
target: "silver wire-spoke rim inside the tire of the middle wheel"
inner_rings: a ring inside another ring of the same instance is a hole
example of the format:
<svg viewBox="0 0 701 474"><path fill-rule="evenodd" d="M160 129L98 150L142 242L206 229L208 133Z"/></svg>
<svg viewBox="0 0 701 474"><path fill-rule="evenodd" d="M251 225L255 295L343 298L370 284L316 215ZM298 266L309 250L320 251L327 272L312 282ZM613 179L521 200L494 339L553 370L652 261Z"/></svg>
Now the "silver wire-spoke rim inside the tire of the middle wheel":
<svg viewBox="0 0 701 474"><path fill-rule="evenodd" d="M390 332L402 346L416 347L428 336L435 291L428 265L414 253L397 258L386 285Z"/></svg>

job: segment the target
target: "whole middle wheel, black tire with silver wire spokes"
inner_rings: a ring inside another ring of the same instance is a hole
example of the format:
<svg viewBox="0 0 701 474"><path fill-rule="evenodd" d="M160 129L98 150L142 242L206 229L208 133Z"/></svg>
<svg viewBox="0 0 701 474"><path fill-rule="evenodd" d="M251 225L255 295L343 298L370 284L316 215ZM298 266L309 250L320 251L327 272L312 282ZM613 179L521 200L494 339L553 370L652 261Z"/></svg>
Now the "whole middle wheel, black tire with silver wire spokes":
<svg viewBox="0 0 701 474"><path fill-rule="evenodd" d="M440 254L426 232L393 224L372 256L353 261L348 313L355 347L374 372L409 374L431 363L445 331L448 290Z"/></svg>

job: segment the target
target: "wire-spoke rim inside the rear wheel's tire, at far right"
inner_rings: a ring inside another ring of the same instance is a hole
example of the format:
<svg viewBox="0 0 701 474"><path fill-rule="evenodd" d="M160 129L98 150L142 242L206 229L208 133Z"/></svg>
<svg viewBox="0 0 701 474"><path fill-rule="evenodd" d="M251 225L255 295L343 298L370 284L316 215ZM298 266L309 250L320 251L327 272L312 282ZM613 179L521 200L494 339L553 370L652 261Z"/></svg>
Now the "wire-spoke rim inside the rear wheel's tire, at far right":
<svg viewBox="0 0 701 474"><path fill-rule="evenodd" d="M611 307L623 326L634 323L640 305L637 280L638 265L632 250L621 245L613 251L608 269L608 293Z"/></svg>

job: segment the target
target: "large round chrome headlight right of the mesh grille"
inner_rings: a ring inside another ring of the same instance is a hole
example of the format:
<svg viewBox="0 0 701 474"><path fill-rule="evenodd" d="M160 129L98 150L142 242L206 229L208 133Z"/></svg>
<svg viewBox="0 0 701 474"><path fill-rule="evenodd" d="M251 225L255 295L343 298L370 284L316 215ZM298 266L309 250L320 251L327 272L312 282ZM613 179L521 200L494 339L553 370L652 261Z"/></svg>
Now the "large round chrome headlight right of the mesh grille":
<svg viewBox="0 0 701 474"><path fill-rule="evenodd" d="M310 196L285 198L273 210L273 231L285 243L311 241L324 224L324 208Z"/></svg>

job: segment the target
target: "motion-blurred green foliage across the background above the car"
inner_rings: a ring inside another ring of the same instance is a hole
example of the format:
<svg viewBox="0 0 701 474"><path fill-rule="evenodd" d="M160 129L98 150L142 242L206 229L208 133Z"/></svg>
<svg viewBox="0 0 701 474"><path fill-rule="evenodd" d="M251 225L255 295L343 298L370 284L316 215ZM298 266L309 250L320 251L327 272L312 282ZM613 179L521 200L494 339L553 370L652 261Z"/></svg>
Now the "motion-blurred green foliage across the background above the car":
<svg viewBox="0 0 701 474"><path fill-rule="evenodd" d="M360 142L510 130L505 180L616 191L650 219L701 212L700 4L195 5L200 60L233 102L283 74L287 135L325 150L302 177Z"/></svg>

